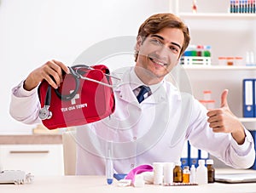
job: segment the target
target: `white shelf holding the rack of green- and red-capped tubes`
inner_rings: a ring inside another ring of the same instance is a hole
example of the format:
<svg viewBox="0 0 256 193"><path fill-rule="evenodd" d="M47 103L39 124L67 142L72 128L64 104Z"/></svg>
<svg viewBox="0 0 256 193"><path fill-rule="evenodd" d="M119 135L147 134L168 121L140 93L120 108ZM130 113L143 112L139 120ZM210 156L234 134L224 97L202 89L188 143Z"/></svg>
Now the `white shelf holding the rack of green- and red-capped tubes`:
<svg viewBox="0 0 256 193"><path fill-rule="evenodd" d="M252 71L256 70L256 66L237 66L237 65L181 65L184 69L188 70L216 70L216 71Z"/></svg>

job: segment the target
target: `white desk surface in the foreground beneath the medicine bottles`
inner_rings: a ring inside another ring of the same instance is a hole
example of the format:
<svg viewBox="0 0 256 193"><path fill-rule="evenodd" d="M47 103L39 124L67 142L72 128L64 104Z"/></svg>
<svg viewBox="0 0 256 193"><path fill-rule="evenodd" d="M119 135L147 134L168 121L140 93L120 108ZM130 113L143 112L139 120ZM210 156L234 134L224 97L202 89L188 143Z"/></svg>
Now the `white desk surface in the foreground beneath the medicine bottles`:
<svg viewBox="0 0 256 193"><path fill-rule="evenodd" d="M254 171L256 173L256 171ZM186 185L186 186L160 186L147 184L143 188L118 187L116 181L108 185L103 176L35 176L32 184L0 184L1 192L8 193L80 193L80 192L95 192L95 193L114 193L114 192L132 192L132 193L151 193L151 192L189 192L189 193L227 193L227 192L255 192L256 183L246 184L204 184L204 185Z"/></svg>

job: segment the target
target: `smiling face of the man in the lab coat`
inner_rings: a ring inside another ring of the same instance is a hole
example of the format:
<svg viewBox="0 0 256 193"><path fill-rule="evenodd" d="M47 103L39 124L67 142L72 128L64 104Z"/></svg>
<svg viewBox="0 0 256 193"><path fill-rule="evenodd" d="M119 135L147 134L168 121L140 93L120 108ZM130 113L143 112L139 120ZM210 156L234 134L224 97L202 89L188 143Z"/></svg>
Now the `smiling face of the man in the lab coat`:
<svg viewBox="0 0 256 193"><path fill-rule="evenodd" d="M183 31L166 27L148 37L137 38L135 72L146 84L160 82L177 65L183 47Z"/></svg>

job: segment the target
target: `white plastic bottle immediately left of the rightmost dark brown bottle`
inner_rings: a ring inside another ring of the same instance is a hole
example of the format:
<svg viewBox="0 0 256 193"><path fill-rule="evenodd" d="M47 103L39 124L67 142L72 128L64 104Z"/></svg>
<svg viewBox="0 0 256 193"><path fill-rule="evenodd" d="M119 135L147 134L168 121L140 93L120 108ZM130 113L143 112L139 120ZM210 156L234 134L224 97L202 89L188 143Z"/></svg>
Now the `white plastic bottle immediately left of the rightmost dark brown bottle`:
<svg viewBox="0 0 256 193"><path fill-rule="evenodd" d="M198 161L199 166L196 167L196 183L197 184L207 184L208 174L207 167L205 166L205 160Z"/></svg>

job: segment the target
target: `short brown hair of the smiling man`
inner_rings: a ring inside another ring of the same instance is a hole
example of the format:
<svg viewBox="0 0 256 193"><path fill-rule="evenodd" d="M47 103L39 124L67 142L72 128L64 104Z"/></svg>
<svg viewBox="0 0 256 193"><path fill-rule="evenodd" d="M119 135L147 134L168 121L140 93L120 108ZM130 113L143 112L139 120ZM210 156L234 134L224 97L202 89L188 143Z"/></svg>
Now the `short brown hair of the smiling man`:
<svg viewBox="0 0 256 193"><path fill-rule="evenodd" d="M145 20L140 26L137 37L142 37L143 41L145 37L148 37L150 34L155 34L161 31L162 29L170 27L177 28L183 31L184 42L181 48L181 54L185 51L189 46L190 36L189 36L189 28L183 23L183 20L178 18L175 14L164 13L164 14L154 14L150 16L147 20ZM137 51L135 53L135 61L137 60Z"/></svg>

